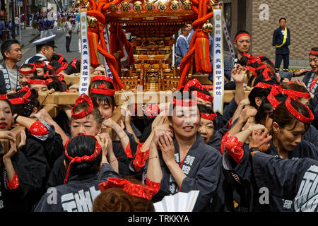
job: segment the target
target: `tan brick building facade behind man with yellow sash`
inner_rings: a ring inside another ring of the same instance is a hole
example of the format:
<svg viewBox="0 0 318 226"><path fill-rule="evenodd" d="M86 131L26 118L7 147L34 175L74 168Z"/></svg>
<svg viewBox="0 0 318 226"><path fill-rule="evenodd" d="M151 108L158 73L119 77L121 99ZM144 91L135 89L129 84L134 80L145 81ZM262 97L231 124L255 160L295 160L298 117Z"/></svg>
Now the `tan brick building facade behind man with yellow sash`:
<svg viewBox="0 0 318 226"><path fill-rule="evenodd" d="M290 59L307 61L310 49L318 47L317 0L223 0L223 4L232 43L238 30L247 30L252 35L251 54L275 59L273 31L282 17L290 29Z"/></svg>

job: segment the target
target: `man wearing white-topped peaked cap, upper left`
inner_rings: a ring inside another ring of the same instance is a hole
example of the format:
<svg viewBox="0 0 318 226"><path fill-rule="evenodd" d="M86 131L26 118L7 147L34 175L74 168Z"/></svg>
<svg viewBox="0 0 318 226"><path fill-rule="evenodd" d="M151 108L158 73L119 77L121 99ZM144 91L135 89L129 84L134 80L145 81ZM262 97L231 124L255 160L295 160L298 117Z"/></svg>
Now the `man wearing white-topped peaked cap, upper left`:
<svg viewBox="0 0 318 226"><path fill-rule="evenodd" d="M36 60L45 61L45 63L48 64L49 61L51 61L53 54L55 54L54 48L57 48L54 42L55 36L56 35L51 35L34 41L33 44L36 46L37 54L35 54L34 57L27 59L24 64L33 64Z"/></svg>

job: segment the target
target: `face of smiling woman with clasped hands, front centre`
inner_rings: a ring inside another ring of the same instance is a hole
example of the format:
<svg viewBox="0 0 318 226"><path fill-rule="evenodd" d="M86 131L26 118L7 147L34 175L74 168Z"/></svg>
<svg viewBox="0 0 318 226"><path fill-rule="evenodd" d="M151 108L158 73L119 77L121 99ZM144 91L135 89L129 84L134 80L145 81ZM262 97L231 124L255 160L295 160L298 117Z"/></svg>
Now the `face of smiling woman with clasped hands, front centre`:
<svg viewBox="0 0 318 226"><path fill-rule="evenodd" d="M183 138L192 138L193 136L196 136L200 124L198 107L176 106L173 109L173 115L169 124L174 129L176 136Z"/></svg>

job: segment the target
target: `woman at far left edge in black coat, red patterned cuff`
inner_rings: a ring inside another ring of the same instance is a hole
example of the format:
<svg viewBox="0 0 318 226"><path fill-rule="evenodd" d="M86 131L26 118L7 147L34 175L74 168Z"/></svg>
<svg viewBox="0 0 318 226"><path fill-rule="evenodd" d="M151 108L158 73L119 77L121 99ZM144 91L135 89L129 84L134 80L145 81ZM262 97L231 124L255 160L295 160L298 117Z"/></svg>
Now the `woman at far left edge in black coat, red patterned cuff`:
<svg viewBox="0 0 318 226"><path fill-rule="evenodd" d="M18 98L11 101L15 104L24 100ZM12 114L11 102L6 95L0 95L0 137L10 143L8 153L0 154L1 208L30 212L45 189L42 185L47 177L48 164L42 145L31 136L34 120L26 126L28 132L20 133L20 143L16 143L16 136L9 129L13 124L20 123L20 119Z"/></svg>

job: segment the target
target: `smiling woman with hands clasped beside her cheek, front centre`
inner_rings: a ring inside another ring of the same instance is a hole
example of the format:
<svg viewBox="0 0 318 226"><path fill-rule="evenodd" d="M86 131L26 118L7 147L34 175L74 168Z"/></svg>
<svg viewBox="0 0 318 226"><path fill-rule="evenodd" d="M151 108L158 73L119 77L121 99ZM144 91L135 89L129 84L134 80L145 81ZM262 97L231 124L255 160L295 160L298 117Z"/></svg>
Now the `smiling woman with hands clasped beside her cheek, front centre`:
<svg viewBox="0 0 318 226"><path fill-rule="evenodd" d="M198 133L200 114L197 100L186 93L172 99L170 131L155 129L148 152L146 184L163 196L199 190L194 211L208 210L220 177L220 153L206 145Z"/></svg>

